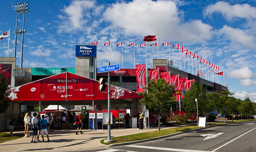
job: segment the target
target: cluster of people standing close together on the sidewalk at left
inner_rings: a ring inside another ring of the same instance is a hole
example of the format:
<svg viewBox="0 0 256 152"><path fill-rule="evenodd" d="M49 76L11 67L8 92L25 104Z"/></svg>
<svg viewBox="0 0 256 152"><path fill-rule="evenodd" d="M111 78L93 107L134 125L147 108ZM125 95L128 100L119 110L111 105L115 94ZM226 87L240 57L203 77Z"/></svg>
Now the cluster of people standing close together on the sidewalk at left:
<svg viewBox="0 0 256 152"><path fill-rule="evenodd" d="M54 123L55 123L55 117L53 114L51 114L51 118L49 117L50 114L44 116L41 115L36 112L33 113L33 118L30 118L30 113L27 112L26 115L24 116L23 122L25 125L25 131L24 131L24 137L30 137L28 132L29 132L29 128L30 126L33 129L33 136L32 136L32 140L31 143L37 143L40 142L39 137L40 134L42 135L42 141L44 142L44 135L47 136L48 141L50 141L49 139L49 128L50 128L50 124L51 124L51 131L54 131Z"/></svg>

